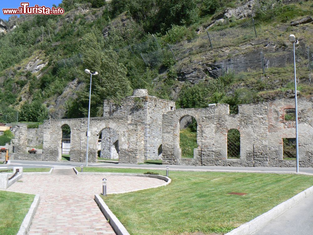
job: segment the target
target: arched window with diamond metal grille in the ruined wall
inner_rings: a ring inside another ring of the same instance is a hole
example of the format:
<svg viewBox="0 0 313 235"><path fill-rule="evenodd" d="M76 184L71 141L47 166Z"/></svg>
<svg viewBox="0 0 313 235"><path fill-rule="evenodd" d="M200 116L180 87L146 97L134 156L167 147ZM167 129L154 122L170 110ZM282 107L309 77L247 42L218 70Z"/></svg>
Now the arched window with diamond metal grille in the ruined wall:
<svg viewBox="0 0 313 235"><path fill-rule="evenodd" d="M227 158L240 158L240 133L237 129L230 129L227 132Z"/></svg>

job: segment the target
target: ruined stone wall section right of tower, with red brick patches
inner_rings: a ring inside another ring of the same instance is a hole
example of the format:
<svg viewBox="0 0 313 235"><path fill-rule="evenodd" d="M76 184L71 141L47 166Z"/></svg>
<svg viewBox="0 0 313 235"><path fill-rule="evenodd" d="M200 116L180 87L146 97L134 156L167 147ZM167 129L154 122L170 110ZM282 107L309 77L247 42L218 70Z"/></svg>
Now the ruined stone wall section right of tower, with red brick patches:
<svg viewBox="0 0 313 235"><path fill-rule="evenodd" d="M295 138L295 121L284 121L284 110L295 108L294 101L282 99L264 104L239 106L229 114L229 106L217 104L204 109L178 109L163 115L163 164L295 167L283 160L282 138ZM313 166L312 101L298 100L299 164ZM181 158L179 120L190 115L197 120L194 158ZM227 131L240 132L240 159L227 159Z"/></svg>

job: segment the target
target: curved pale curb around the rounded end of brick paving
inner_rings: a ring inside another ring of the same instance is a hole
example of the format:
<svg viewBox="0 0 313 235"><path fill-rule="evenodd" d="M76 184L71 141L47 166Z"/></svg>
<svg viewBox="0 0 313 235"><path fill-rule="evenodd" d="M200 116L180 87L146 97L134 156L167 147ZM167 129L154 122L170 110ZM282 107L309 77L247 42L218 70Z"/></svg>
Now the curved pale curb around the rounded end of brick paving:
<svg viewBox="0 0 313 235"><path fill-rule="evenodd" d="M145 174L133 174L133 173L113 173L113 172L78 172L74 167L74 172L76 175L123 175L123 176L137 176L137 177L148 177L148 178L155 178L159 180L164 180L165 183L162 185L157 185L149 188L144 188L144 189L135 189L135 190L130 190L130 191L122 191L122 192L115 192L115 193L107 193L107 194L120 194L120 193L129 193L129 192L135 192L135 191L140 191L140 190L145 190L145 189L153 189L153 188L158 188L161 186L168 185L171 183L171 179L168 178L167 176L164 175L145 175Z"/></svg>

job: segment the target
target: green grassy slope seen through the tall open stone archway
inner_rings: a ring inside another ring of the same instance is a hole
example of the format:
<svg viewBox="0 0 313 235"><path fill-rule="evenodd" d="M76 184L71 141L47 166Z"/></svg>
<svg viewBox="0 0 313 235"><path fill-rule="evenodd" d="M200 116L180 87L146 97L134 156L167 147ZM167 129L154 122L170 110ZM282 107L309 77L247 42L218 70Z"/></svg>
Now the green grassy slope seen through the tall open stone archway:
<svg viewBox="0 0 313 235"><path fill-rule="evenodd" d="M192 132L188 127L181 129L179 136L179 145L182 149L182 158L193 158L193 149L198 147L197 132Z"/></svg>

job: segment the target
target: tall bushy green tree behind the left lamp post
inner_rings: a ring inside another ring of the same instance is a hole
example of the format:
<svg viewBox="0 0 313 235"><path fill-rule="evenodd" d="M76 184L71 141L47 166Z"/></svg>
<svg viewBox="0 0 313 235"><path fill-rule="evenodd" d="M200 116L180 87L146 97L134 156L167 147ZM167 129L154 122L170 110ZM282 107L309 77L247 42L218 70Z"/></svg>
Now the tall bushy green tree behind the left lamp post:
<svg viewBox="0 0 313 235"><path fill-rule="evenodd" d="M84 56L84 67L99 73L97 76L92 76L90 113L91 116L101 116L103 100L110 99L118 102L121 98L131 94L130 82L126 76L127 69L118 62L118 55L115 51L104 49L100 31L93 30L83 37L80 53ZM68 108L78 106L76 113L84 117L88 114L90 76L83 71L78 72L78 76L86 86L77 92L78 97L74 102L78 105L68 105ZM73 112L67 110L67 114L70 113Z"/></svg>

